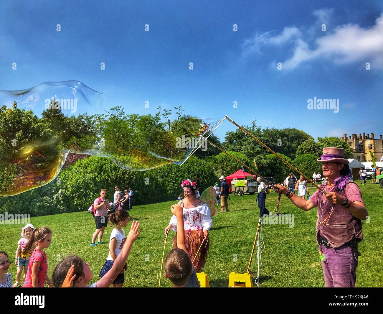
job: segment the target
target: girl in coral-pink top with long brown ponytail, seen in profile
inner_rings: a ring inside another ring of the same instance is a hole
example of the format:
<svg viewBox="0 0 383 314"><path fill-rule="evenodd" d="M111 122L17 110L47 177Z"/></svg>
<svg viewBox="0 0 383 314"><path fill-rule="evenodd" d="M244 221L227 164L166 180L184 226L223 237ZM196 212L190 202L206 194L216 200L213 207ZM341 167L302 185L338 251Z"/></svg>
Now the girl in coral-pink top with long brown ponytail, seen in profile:
<svg viewBox="0 0 383 314"><path fill-rule="evenodd" d="M34 229L31 240L25 246L22 254L31 253L28 271L25 277L24 288L43 288L45 281L49 287L53 287L51 279L47 275L48 261L44 248L51 245L52 232L47 227Z"/></svg>

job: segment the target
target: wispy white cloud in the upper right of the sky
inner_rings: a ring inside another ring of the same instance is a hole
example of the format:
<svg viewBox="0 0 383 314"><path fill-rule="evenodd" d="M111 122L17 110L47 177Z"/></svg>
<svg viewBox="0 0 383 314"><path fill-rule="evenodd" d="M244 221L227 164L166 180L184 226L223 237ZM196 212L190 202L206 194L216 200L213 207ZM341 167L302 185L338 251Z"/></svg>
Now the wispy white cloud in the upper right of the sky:
<svg viewBox="0 0 383 314"><path fill-rule="evenodd" d="M313 14L318 16L317 22L328 23L332 10L317 10ZM260 52L262 46L279 46L290 41L293 45L292 57L282 61L283 68L290 70L303 62L320 58L332 59L336 64L358 61L363 64L370 62L372 67L383 67L383 13L370 28L346 24L335 27L332 33L327 29L326 35L314 40L314 49L309 49L308 40L304 39L309 37L311 30L312 26L306 33L296 27L286 27L276 36L272 36L271 32L257 34L247 39L242 48L247 49L247 53Z"/></svg>

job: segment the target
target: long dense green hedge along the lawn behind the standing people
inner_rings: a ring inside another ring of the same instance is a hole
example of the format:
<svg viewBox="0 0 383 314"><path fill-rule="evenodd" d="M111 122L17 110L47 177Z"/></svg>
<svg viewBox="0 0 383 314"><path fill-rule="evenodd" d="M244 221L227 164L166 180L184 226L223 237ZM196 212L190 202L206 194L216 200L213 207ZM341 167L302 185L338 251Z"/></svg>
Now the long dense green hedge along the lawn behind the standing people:
<svg viewBox="0 0 383 314"><path fill-rule="evenodd" d="M113 201L116 185L121 190L131 187L136 205L177 200L182 193L181 182L187 178L199 178L201 192L218 180L210 164L195 156L182 166L166 165L148 171L125 170L108 158L90 156L70 165L43 187L0 197L0 213L38 216L87 210L102 188L107 189L107 198Z"/></svg>

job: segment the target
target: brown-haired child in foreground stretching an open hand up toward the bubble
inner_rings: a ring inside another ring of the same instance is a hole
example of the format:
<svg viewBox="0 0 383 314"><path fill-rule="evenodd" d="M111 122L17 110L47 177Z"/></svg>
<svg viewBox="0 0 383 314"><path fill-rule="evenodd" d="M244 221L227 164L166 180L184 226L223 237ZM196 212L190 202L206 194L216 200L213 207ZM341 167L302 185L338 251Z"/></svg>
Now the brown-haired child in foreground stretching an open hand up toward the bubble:
<svg viewBox="0 0 383 314"><path fill-rule="evenodd" d="M123 249L115 259L112 268L97 282L87 286L92 279L93 274L89 264L85 263L77 255L65 256L60 263L57 264L53 271L52 279L56 288L69 287L87 287L87 288L108 288L121 270L123 269L126 260L128 259L130 250L134 241L137 240L141 229L138 231L140 224L138 221L133 221L128 233L128 237L123 246Z"/></svg>

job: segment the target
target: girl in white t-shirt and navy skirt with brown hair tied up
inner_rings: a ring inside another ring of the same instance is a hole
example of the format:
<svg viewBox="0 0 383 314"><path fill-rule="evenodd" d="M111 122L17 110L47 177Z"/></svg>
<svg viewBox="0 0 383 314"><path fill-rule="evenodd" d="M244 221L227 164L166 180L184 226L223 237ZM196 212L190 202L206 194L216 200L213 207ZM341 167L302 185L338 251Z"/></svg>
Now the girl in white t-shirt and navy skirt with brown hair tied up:
<svg viewBox="0 0 383 314"><path fill-rule="evenodd" d="M109 239L109 255L106 258L106 262L104 266L102 266L100 275L98 275L100 278L102 278L109 270L111 270L113 263L115 262L118 254L121 252L122 248L124 247L124 243L126 241L125 237L125 231L122 229L122 227L126 227L129 221L129 214L126 210L117 210L117 212L113 212L109 214L109 220L111 223L111 226L116 225L115 228L112 230L110 234ZM121 268L120 273L118 274L115 281L113 281L112 287L113 288L122 288L124 284L124 271L128 269L128 266L124 265L123 268Z"/></svg>

